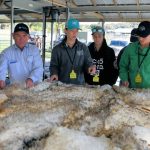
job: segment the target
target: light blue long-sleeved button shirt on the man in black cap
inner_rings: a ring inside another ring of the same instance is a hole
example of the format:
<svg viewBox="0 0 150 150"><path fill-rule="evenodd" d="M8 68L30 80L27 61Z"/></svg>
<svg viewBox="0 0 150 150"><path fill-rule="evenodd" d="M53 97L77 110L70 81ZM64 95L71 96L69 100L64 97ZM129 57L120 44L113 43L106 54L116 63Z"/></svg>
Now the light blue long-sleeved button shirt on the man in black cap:
<svg viewBox="0 0 150 150"><path fill-rule="evenodd" d="M11 83L25 83L31 78L34 83L42 81L43 63L39 49L27 43L23 50L15 44L0 54L0 80L6 78L8 72Z"/></svg>

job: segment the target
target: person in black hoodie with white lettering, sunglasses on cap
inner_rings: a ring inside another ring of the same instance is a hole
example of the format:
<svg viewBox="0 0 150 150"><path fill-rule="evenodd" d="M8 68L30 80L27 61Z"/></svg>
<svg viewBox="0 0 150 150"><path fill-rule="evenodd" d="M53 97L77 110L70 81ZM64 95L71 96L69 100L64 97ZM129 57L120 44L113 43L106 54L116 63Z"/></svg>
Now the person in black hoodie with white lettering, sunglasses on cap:
<svg viewBox="0 0 150 150"><path fill-rule="evenodd" d="M94 42L89 45L89 50L93 64L96 65L96 74L92 76L85 73L86 82L91 85L113 85L118 77L118 70L114 66L114 50L106 43L104 28L94 26L91 31Z"/></svg>

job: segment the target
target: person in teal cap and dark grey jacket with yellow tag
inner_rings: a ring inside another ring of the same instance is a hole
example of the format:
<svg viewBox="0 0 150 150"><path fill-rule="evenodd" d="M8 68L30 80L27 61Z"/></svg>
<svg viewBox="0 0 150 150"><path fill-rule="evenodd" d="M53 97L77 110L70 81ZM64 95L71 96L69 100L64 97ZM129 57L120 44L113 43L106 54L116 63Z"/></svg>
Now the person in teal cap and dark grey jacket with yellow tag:
<svg viewBox="0 0 150 150"><path fill-rule="evenodd" d="M69 19L65 25L66 38L52 50L50 81L84 84L84 70L95 73L87 46L77 40L79 21Z"/></svg>

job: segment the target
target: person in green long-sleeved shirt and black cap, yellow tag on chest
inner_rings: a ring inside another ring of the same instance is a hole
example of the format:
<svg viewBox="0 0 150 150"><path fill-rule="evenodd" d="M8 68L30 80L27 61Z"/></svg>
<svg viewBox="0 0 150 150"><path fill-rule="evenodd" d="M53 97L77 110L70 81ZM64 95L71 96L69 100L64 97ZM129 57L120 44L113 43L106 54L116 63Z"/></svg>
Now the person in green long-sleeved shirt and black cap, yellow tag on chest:
<svg viewBox="0 0 150 150"><path fill-rule="evenodd" d="M150 22L143 21L137 29L138 41L129 44L121 56L119 77L122 86L150 88Z"/></svg>

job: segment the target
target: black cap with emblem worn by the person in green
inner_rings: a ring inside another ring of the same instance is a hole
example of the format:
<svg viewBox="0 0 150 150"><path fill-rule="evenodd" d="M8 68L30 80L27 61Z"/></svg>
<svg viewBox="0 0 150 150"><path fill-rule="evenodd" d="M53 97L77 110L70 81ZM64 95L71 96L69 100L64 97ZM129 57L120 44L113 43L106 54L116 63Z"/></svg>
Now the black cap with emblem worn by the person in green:
<svg viewBox="0 0 150 150"><path fill-rule="evenodd" d="M137 35L140 37L147 37L150 34L150 22L143 21L139 24L137 29Z"/></svg>

